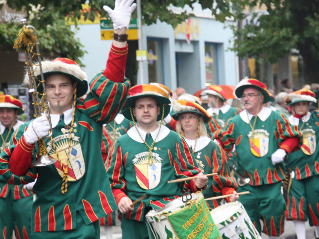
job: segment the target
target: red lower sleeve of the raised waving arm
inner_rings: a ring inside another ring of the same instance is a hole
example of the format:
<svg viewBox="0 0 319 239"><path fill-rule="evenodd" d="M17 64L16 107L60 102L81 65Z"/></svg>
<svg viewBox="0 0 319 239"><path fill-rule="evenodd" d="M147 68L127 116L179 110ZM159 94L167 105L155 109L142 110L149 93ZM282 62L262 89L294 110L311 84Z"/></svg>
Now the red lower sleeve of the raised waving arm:
<svg viewBox="0 0 319 239"><path fill-rule="evenodd" d="M126 66L128 44L124 48L115 47L113 44L108 54L108 61L103 75L113 82L123 82Z"/></svg>

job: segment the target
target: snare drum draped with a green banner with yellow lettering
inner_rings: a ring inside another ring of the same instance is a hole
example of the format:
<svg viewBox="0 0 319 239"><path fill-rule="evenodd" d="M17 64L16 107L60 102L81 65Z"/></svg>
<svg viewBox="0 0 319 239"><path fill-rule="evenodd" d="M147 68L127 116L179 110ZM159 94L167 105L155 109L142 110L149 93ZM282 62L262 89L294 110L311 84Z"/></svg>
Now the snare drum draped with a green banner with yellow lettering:
<svg viewBox="0 0 319 239"><path fill-rule="evenodd" d="M182 197L179 197L163 208L153 209L146 214L146 222L152 231L152 235L149 235L150 238L186 239L195 238L204 232L207 235L205 238L221 238L216 225L211 219L211 213L204 203L203 194L196 192L191 195L190 205L183 203ZM199 236L199 238L201 237Z"/></svg>

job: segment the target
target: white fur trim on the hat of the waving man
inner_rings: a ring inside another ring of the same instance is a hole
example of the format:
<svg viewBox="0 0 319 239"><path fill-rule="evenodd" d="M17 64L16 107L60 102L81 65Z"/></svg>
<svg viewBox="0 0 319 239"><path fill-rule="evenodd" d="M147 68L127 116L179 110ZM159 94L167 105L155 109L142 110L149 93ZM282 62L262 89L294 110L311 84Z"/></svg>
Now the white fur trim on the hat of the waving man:
<svg viewBox="0 0 319 239"><path fill-rule="evenodd" d="M33 68L37 65L33 66ZM53 71L60 71L66 74L70 74L75 76L76 78L80 79L81 81L87 80L87 75L86 73L81 69L79 65L76 64L68 64L64 63L62 61L50 61L50 60L43 60L41 62L42 66L42 72L47 73L47 72L53 72ZM40 75L40 67L35 67L34 68L34 76ZM23 79L23 84L24 86L29 86L29 77L28 73L26 72L24 79Z"/></svg>

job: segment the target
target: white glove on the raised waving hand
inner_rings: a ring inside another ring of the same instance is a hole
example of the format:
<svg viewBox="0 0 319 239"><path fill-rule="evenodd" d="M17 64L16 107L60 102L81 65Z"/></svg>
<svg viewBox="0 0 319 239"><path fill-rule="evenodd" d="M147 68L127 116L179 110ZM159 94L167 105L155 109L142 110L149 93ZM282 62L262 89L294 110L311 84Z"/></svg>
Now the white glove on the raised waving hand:
<svg viewBox="0 0 319 239"><path fill-rule="evenodd" d="M131 14L136 8L136 3L133 3L133 1L134 0L115 0L114 10L106 5L103 6L103 9L108 12L108 15L110 15L113 21L114 29L120 29L124 26L129 29Z"/></svg>

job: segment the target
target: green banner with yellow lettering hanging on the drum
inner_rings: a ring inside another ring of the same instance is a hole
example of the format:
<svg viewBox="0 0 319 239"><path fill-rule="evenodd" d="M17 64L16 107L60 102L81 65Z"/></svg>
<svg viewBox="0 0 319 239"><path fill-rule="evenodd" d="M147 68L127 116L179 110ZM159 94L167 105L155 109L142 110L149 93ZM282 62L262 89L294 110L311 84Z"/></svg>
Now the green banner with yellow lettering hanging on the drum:
<svg viewBox="0 0 319 239"><path fill-rule="evenodd" d="M220 239L221 235L204 197L188 202L178 211L166 214L175 234L182 239Z"/></svg>

